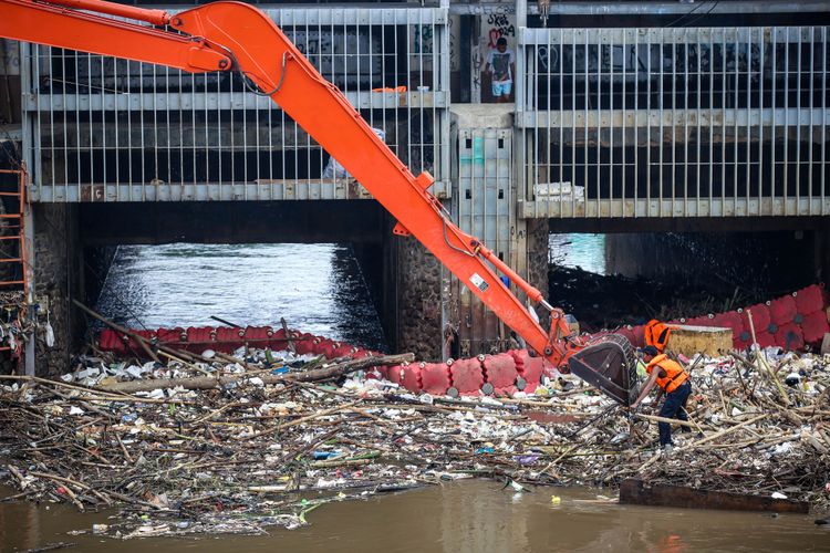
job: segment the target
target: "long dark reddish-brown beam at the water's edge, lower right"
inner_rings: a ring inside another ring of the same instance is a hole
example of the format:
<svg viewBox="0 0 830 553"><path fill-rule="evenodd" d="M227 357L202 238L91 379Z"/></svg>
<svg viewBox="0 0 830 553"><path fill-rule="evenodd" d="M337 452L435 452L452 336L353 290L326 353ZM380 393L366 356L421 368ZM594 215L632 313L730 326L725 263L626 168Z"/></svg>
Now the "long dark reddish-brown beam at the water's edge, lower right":
<svg viewBox="0 0 830 553"><path fill-rule="evenodd" d="M748 493L698 490L685 486L652 484L639 479L623 480L620 503L650 507L678 507L684 509L720 509L726 511L772 511L779 513L807 513L807 501L772 499Z"/></svg>

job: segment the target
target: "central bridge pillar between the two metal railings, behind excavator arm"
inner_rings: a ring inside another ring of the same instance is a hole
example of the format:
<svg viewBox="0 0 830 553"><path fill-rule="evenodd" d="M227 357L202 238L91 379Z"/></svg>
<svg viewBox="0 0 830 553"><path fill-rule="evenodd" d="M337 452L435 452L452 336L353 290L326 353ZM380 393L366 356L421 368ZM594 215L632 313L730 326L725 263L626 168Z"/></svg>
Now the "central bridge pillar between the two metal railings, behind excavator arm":
<svg viewBox="0 0 830 553"><path fill-rule="evenodd" d="M454 106L450 135L457 150L447 211L461 230L546 292L548 221L520 219L516 211L520 190L511 153L512 106ZM509 328L417 240L392 234L394 222L387 221L382 246L355 244L390 346L426 361L515 346ZM537 311L547 325L547 313Z"/></svg>

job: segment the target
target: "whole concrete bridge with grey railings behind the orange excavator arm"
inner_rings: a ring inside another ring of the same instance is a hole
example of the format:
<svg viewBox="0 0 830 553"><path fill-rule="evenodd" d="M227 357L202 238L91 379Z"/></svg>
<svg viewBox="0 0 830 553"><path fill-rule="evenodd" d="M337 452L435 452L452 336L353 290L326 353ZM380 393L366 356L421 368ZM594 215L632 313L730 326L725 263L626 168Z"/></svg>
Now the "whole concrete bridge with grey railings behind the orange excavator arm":
<svg viewBox="0 0 830 553"><path fill-rule="evenodd" d="M461 228L543 290L549 229L796 229L823 248L830 7L800 6L262 8L415 174L436 177ZM484 71L498 36L516 54L508 104L491 103ZM450 333L463 354L509 342L239 75L4 46L34 291L62 326L44 363L65 361L80 328L66 298L94 290L86 258L180 240L350 241L397 347L436 358Z"/></svg>

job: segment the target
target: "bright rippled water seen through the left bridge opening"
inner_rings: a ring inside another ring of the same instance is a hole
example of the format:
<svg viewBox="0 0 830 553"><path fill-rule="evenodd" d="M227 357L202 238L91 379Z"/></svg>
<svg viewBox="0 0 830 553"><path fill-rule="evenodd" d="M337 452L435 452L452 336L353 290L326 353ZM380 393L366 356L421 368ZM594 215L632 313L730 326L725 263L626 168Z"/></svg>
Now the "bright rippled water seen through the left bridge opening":
<svg viewBox="0 0 830 553"><path fill-rule="evenodd" d="M123 246L98 310L135 328L279 325L384 348L351 250L340 244Z"/></svg>

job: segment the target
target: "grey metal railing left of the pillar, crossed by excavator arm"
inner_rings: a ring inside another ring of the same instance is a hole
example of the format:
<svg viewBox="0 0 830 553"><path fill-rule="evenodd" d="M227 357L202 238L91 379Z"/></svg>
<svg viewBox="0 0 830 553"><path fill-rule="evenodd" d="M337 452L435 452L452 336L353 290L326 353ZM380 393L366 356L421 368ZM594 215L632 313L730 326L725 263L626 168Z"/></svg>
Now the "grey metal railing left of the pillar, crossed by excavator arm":
<svg viewBox="0 0 830 553"><path fill-rule="evenodd" d="M436 194L446 195L446 8L266 12L398 157L415 174L430 171ZM35 201L369 197L236 74L191 75L30 44L21 61Z"/></svg>

